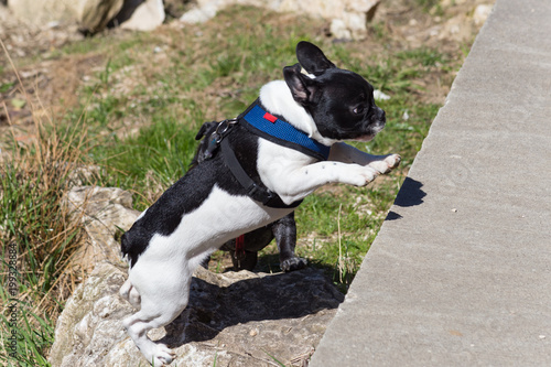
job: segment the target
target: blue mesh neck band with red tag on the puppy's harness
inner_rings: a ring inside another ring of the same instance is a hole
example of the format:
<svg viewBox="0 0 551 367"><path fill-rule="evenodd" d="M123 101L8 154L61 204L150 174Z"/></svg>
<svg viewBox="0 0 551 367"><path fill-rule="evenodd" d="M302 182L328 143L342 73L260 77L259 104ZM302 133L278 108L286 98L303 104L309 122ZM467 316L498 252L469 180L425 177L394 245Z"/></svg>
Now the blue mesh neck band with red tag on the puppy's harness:
<svg viewBox="0 0 551 367"><path fill-rule="evenodd" d="M281 116L268 112L260 99L255 100L239 115L238 120L250 132L277 144L298 150L321 161L326 161L329 156L331 147L311 139Z"/></svg>

